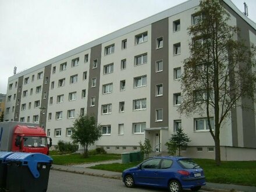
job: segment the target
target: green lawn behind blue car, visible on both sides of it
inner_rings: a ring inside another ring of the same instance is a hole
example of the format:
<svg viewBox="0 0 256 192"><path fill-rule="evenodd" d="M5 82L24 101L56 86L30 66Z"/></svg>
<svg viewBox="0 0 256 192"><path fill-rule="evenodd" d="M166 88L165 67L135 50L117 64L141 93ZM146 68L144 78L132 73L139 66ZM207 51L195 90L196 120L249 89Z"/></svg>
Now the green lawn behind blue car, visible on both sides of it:
<svg viewBox="0 0 256 192"><path fill-rule="evenodd" d="M256 161L222 161L221 166L216 166L215 161L211 159L194 159L194 161L204 169L207 182L256 186ZM112 163L90 168L122 172L138 163L140 162Z"/></svg>

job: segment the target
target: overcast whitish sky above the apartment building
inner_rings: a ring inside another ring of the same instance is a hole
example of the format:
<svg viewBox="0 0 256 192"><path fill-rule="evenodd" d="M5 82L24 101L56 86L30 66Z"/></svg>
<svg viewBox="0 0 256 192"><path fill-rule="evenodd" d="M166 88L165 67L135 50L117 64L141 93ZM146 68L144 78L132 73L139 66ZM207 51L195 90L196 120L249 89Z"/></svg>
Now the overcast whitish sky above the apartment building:
<svg viewBox="0 0 256 192"><path fill-rule="evenodd" d="M0 0L0 93L8 77L186 0ZM256 22L255 0L245 0ZM242 12L243 0L232 0Z"/></svg>

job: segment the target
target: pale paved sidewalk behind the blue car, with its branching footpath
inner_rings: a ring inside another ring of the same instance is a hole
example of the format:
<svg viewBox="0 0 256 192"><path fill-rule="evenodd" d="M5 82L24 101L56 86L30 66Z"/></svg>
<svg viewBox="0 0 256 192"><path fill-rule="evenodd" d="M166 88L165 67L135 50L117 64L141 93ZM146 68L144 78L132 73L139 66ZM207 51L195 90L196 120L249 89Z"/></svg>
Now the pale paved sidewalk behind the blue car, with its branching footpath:
<svg viewBox="0 0 256 192"><path fill-rule="evenodd" d="M98 169L89 169L88 167L98 165L98 164L106 164L106 163L121 163L122 161L115 160L115 161L104 161L104 162L97 162L97 163L86 163L80 165L72 165L72 166L65 166L65 165L52 165L51 169L60 170L63 172L71 172L71 173L79 173L83 175L91 175L91 176L98 176L98 177L106 177L111 179L120 179L122 180L122 173L119 172L111 172L108 170L98 170ZM235 184L221 184L221 183L207 183L206 186L202 187L202 190L207 191L216 191L216 192L256 192L256 187L251 186L239 186Z"/></svg>

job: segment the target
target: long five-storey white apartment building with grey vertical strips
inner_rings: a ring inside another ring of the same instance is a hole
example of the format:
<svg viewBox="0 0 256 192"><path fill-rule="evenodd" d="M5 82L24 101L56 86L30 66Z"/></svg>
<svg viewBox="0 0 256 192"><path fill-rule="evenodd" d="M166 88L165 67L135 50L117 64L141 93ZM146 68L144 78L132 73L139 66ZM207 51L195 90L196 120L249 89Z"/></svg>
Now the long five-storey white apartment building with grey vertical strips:
<svg viewBox="0 0 256 192"><path fill-rule="evenodd" d="M223 2L230 23L247 45L255 44L256 24ZM95 145L115 153L139 150L145 138L153 151L166 152L166 141L182 127L191 139L182 155L214 158L206 116L177 112L187 28L196 24L198 5L184 2L9 77L5 120L39 123L56 145L70 141L75 118L94 115L102 127ZM233 111L221 129L222 159L255 160L255 139L255 116Z"/></svg>

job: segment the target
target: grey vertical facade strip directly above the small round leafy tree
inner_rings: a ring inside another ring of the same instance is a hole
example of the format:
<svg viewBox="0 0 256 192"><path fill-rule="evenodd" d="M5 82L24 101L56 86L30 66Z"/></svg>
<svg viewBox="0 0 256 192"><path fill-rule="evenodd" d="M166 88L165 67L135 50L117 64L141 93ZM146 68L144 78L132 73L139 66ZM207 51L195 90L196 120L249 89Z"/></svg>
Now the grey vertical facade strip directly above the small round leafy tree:
<svg viewBox="0 0 256 192"><path fill-rule="evenodd" d="M98 116L99 81L101 74L101 44L91 48L90 72L88 84L87 115ZM97 67L93 69L94 60L97 59ZM96 86L92 87L92 79L96 78ZM95 97L95 105L91 106L91 98Z"/></svg>

